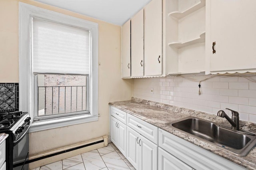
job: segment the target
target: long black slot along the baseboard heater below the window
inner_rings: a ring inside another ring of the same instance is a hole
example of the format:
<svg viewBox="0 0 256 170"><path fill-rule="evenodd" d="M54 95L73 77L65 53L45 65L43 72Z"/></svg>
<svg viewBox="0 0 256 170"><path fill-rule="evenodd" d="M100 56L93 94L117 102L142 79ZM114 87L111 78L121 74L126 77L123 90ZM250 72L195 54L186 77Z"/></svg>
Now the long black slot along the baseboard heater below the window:
<svg viewBox="0 0 256 170"><path fill-rule="evenodd" d="M63 153L66 153L66 152L70 152L70 151L73 151L73 150L76 150L76 149L84 148L84 147L91 146L91 145L94 145L94 144L98 144L98 143L101 143L101 142L104 142L104 139L100 140L100 141L88 143L88 144L85 144L85 145L82 145L82 146L70 148L70 149L67 149L67 150L62 150L60 152L56 152L56 153L49 154L49 155L46 155L46 156L41 156L41 157L34 158L34 159L31 159L31 160L26 160L25 163L24 162L20 162L18 164L14 164L13 167L22 166L23 164L29 164L31 162L35 162L35 161L38 161L38 160L42 160L42 159L45 159L45 158L56 156L58 154L63 154Z"/></svg>

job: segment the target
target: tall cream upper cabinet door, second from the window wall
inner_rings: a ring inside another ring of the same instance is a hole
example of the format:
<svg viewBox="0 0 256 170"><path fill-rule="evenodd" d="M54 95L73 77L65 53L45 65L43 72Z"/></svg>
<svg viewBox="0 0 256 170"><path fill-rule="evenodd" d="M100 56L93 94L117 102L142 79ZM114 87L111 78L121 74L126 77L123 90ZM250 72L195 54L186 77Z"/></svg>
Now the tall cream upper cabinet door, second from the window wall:
<svg viewBox="0 0 256 170"><path fill-rule="evenodd" d="M131 19L132 77L144 75L144 9Z"/></svg>

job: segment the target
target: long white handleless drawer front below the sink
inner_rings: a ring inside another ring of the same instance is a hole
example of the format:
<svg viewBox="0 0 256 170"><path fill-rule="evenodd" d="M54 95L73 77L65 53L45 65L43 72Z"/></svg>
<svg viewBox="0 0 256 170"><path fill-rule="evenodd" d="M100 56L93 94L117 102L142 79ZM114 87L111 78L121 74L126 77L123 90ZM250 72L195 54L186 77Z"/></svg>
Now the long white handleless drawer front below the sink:
<svg viewBox="0 0 256 170"><path fill-rule="evenodd" d="M162 129L159 129L159 146L196 170L246 169Z"/></svg>

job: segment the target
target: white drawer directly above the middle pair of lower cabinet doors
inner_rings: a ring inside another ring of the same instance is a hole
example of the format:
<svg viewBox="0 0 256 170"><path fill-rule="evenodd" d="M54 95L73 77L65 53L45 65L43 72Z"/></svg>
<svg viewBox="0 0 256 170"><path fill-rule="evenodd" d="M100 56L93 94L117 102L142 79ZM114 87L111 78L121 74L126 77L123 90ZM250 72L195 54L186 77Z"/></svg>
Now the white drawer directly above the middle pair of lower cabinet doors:
<svg viewBox="0 0 256 170"><path fill-rule="evenodd" d="M158 127L142 121L141 119L138 119L130 114L127 114L127 125L155 144L158 144Z"/></svg>

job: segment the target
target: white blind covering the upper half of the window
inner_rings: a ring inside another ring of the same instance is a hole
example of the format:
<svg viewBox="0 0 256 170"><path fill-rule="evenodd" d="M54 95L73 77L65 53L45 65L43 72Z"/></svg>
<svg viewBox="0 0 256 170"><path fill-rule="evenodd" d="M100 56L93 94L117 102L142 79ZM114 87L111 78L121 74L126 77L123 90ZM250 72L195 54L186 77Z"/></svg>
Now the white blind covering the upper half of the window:
<svg viewBox="0 0 256 170"><path fill-rule="evenodd" d="M89 74L90 32L33 18L34 73Z"/></svg>

